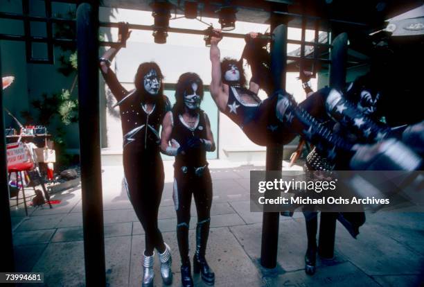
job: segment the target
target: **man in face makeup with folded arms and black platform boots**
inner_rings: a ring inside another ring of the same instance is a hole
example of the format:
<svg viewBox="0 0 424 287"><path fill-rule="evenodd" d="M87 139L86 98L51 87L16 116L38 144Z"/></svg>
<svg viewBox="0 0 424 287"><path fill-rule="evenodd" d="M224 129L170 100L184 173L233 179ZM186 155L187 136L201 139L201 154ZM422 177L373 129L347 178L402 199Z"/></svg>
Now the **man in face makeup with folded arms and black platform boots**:
<svg viewBox="0 0 424 287"><path fill-rule="evenodd" d="M177 211L177 241L181 256L182 286L193 286L188 256L188 226L191 197L197 209L196 250L193 270L201 272L206 284L215 282L215 274L205 259L212 204L212 180L206 162L206 152L215 150L211 124L200 110L203 83L196 73L179 77L173 110L164 117L161 150L175 156L173 199Z"/></svg>

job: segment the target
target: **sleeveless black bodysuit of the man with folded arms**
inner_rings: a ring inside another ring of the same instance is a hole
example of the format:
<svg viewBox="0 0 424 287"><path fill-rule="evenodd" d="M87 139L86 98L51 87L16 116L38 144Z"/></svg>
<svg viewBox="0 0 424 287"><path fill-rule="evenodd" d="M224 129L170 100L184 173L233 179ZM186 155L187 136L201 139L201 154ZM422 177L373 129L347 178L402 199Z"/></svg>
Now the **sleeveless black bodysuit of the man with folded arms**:
<svg viewBox="0 0 424 287"><path fill-rule="evenodd" d="M173 132L180 146L197 137L206 139L206 114L200 111L194 128L188 126L182 115L173 112ZM177 211L177 239L182 263L188 263L188 226L190 223L191 196L197 209L197 229L202 229L204 241L209 233L212 205L212 180L206 161L204 146L189 148L185 155L175 157L173 199ZM206 242L204 243L206 246Z"/></svg>

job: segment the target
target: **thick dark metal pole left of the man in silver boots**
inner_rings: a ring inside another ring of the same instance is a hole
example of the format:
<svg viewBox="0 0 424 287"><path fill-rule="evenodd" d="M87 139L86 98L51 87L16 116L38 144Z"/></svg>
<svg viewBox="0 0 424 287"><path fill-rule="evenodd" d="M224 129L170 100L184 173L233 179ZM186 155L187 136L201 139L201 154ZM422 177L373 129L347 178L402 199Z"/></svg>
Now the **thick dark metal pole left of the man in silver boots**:
<svg viewBox="0 0 424 287"><path fill-rule="evenodd" d="M78 6L77 47L85 280L87 286L105 286L96 5Z"/></svg>

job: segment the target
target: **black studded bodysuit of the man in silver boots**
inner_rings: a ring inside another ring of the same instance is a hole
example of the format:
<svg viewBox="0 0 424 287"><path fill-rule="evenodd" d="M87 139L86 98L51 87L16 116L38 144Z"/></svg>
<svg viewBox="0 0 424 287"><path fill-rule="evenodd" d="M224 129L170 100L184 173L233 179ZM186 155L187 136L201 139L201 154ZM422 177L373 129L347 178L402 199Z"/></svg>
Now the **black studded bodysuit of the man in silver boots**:
<svg viewBox="0 0 424 287"><path fill-rule="evenodd" d="M114 94L121 111L123 131L123 167L128 196L145 230L145 249L163 247L157 227L157 214L164 189L164 164L160 156L159 127L170 103L166 96L155 101L153 110L146 111L136 90L127 90L118 82L111 69L103 76Z"/></svg>

